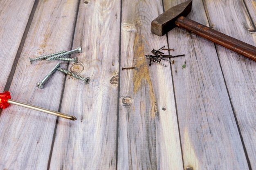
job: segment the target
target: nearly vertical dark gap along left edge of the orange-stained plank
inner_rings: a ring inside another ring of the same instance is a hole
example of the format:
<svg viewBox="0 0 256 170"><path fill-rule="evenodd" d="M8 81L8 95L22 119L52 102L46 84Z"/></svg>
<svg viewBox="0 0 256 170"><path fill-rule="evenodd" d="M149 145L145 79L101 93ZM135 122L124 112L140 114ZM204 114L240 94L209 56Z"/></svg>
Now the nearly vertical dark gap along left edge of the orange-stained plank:
<svg viewBox="0 0 256 170"><path fill-rule="evenodd" d="M118 170L118 137L119 137L119 110L120 110L120 77L121 77L121 32L122 32L122 5L120 2L120 29L119 29L119 67L118 67L118 89L117 89L117 137L116 137L116 170Z"/></svg>

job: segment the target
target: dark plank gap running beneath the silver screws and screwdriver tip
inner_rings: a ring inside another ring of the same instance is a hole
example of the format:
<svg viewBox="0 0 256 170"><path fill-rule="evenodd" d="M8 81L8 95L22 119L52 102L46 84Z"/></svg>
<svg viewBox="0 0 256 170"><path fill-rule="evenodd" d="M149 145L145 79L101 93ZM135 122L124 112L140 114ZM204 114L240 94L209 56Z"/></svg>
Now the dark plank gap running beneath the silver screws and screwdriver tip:
<svg viewBox="0 0 256 170"><path fill-rule="evenodd" d="M73 35L72 35L72 41L71 41L70 50L72 50L72 48L73 48L74 36L75 36L75 31L76 31L76 22L77 22L78 13L79 13L79 5L80 5L80 2L79 2L79 0L78 0L78 1L77 1L77 8L76 8L76 18L75 18L74 24L73 24L73 25L74 25L74 28L73 28ZM70 62L67 63L66 70L68 69L69 63L70 63ZM64 95L64 90L65 90L66 79L67 79L67 75L65 75L65 77L64 77L64 82L63 82L63 87L62 87L62 91L61 91L61 99L60 99L60 104L59 104L59 107L58 107L58 112L61 111L61 104L62 104L62 100L63 100L63 95ZM54 133L53 133L53 137L52 137L52 146L51 146L51 150L50 150L50 153L49 153L49 159L48 159L47 170L50 169L50 165L51 165L52 152L53 152L54 142L55 142L55 139L56 139L57 127L58 127L58 117L56 118L56 124L55 124L55 127L54 127Z"/></svg>

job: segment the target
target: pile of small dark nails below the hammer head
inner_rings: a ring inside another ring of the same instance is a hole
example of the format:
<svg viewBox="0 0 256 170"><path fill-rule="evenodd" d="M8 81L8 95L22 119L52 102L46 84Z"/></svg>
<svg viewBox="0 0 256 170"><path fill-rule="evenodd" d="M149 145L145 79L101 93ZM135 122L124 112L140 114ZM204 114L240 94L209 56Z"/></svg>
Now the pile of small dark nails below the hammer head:
<svg viewBox="0 0 256 170"><path fill-rule="evenodd" d="M151 66L151 62L156 62L158 64L161 64L162 66L165 66L165 64L162 64L161 60L165 60L165 61L168 61L170 63L174 63L174 60L168 60L166 58L171 58L171 57L181 57L181 56L185 56L184 54L182 55L165 55L163 52L161 52L160 50L168 50L168 51L174 51L174 49L164 49L165 46L162 46L160 49L158 50L155 50L153 49L151 52L154 54L154 55L145 55L145 57L147 57L149 59L149 65Z"/></svg>

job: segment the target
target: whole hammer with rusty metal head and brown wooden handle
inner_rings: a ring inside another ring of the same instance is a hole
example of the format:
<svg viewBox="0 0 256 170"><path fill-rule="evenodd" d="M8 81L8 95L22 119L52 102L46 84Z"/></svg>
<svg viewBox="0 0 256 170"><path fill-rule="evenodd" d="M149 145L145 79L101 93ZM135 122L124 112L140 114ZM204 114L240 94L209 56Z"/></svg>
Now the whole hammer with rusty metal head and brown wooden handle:
<svg viewBox="0 0 256 170"><path fill-rule="evenodd" d="M192 0L188 0L178 4L151 22L151 32L162 36L175 26L184 28L192 33L195 33L207 40L215 42L221 46L226 47L240 55L243 55L251 60L256 61L256 47L228 35L220 33L214 29L209 28L186 18L192 7Z"/></svg>

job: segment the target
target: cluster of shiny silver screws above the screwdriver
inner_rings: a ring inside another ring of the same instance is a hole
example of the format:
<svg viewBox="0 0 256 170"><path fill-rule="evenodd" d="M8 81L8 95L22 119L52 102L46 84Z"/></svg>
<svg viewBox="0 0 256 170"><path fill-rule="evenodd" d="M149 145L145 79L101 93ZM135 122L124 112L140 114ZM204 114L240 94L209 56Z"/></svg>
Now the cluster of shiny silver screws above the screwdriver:
<svg viewBox="0 0 256 170"><path fill-rule="evenodd" d="M36 60L46 60L46 61L50 61L50 60L61 60L61 61L67 61L67 62L75 62L77 63L78 62L78 59L77 57L75 58L67 58L67 57L64 57L64 56L68 56L70 54L73 54L73 53L81 53L82 52L82 48L81 46L78 46L77 49L74 49L74 50L71 50L71 51L60 51L60 52L57 52L57 53L52 53L52 54L48 54L48 55L43 55L43 56L40 56L40 57L36 57L36 58L30 58L29 57L29 61L30 63L32 64L33 61L36 61ZM85 82L85 84L89 84L90 82L90 78L89 77L82 77L80 75L77 75L75 73L72 73L70 71L67 71L63 68L60 68L60 65L61 63L58 62L54 68L52 68L52 70L43 78L42 81L40 82L37 82L36 86L38 88L44 88L44 84L47 82L47 80L53 75L53 73L55 73L56 70L58 71L61 71L62 73L65 73L66 75L70 75L76 79L79 79L79 80L82 80Z"/></svg>

